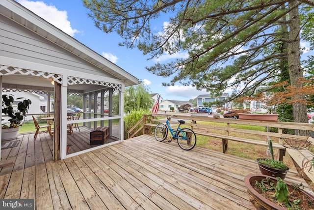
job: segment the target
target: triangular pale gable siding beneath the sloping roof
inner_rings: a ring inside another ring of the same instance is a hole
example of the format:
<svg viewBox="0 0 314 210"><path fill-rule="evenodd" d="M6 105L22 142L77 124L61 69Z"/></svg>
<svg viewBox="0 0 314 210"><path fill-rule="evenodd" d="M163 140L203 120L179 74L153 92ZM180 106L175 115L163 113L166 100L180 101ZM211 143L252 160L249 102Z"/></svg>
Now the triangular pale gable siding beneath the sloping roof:
<svg viewBox="0 0 314 210"><path fill-rule="evenodd" d="M114 78L0 15L0 56Z"/></svg>

